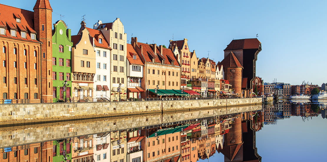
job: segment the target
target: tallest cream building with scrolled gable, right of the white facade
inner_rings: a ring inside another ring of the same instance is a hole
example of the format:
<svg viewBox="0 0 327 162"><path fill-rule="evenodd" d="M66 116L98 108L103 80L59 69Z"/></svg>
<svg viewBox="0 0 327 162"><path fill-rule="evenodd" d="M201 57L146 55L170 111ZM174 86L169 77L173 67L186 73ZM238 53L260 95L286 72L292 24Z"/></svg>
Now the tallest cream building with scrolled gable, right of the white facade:
<svg viewBox="0 0 327 162"><path fill-rule="evenodd" d="M110 54L110 98L125 99L127 97L127 34L125 33L124 25L119 18L116 18L112 23L102 23L99 20L95 23L94 29L102 31L102 34L112 48ZM119 86L121 87L121 92L117 92Z"/></svg>

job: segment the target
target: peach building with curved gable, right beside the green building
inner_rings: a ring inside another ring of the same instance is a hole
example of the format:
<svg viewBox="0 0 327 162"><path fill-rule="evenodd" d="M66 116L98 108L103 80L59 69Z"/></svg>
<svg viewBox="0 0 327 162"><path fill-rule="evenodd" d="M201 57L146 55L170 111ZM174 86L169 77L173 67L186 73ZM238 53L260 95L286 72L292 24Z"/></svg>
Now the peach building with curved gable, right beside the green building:
<svg viewBox="0 0 327 162"><path fill-rule="evenodd" d="M81 102L93 100L95 50L90 42L89 31L83 29L79 35L72 36L72 42L72 97Z"/></svg>

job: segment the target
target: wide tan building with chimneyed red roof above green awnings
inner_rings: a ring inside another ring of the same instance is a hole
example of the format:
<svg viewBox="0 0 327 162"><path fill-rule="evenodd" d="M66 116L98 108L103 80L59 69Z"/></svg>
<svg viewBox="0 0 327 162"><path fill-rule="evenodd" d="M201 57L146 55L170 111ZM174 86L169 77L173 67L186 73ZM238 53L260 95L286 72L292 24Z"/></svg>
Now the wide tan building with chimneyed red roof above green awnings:
<svg viewBox="0 0 327 162"><path fill-rule="evenodd" d="M171 49L137 42L136 37L131 43L145 64L141 81L144 90L156 89L157 85L159 89L180 89L181 67ZM148 93L146 96L149 96Z"/></svg>

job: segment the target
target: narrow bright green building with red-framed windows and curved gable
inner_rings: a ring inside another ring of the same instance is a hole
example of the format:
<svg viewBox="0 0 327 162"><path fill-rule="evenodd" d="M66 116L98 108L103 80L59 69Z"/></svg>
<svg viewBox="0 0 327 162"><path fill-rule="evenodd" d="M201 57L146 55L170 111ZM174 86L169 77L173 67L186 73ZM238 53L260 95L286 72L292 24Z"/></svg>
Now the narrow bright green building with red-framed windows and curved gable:
<svg viewBox="0 0 327 162"><path fill-rule="evenodd" d="M52 94L54 102L65 102L71 98L71 31L59 20L52 30Z"/></svg>

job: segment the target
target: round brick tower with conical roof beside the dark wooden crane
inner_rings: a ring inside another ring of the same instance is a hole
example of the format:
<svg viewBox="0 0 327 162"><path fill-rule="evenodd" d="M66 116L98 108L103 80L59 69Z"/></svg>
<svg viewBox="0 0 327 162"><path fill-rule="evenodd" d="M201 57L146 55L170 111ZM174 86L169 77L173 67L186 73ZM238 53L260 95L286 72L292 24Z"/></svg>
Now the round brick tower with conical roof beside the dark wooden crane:
<svg viewBox="0 0 327 162"><path fill-rule="evenodd" d="M230 52L221 63L218 63L218 65L223 65L225 80L228 80L232 84L234 93L241 96L243 66L237 60L234 53Z"/></svg>

